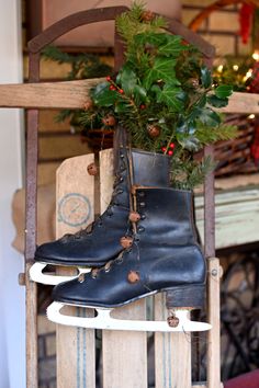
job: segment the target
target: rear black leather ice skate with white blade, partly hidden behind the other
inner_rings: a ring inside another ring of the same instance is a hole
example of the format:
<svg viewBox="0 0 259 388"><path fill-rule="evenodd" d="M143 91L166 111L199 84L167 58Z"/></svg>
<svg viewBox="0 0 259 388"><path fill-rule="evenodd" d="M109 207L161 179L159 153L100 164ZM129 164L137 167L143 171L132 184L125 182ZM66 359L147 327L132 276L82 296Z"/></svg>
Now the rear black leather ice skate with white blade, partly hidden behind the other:
<svg viewBox="0 0 259 388"><path fill-rule="evenodd" d="M78 266L80 274L116 258L131 241L128 214L132 184L168 186L169 158L136 149L130 151L122 146L119 149L114 191L106 210L88 228L40 246L35 252L36 263L30 271L31 278L55 285L72 277L43 273L47 264ZM122 236L125 236L124 239L121 239Z"/></svg>

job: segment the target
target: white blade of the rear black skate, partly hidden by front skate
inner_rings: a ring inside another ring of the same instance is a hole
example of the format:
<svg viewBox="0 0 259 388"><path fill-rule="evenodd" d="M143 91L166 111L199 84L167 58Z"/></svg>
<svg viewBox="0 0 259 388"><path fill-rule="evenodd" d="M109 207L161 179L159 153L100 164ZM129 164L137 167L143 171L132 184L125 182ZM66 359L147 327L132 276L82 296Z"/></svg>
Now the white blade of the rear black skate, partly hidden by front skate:
<svg viewBox="0 0 259 388"><path fill-rule="evenodd" d="M90 272L91 269L78 269L77 275L61 276L61 275L48 275L44 274L43 270L47 266L46 263L35 263L30 269L30 277L33 282L46 284L50 286L56 286L59 283L72 281L77 278L80 274Z"/></svg>

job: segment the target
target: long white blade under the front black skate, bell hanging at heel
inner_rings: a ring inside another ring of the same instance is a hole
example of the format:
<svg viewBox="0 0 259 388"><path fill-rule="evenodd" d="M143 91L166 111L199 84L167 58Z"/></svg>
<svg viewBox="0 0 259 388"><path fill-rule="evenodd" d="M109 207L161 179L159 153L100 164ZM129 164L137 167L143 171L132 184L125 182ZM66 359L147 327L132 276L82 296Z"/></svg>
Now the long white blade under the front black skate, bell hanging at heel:
<svg viewBox="0 0 259 388"><path fill-rule="evenodd" d="M47 318L56 323L80 327L86 329L102 330L131 330L131 331L162 331L162 332L191 332L206 331L212 328L210 323L195 322L189 319L189 310L174 310L179 324L176 328L169 327L166 321L137 321L115 319L110 316L113 309L95 309L98 316L94 318L65 316L60 312L65 304L54 301L47 308Z"/></svg>

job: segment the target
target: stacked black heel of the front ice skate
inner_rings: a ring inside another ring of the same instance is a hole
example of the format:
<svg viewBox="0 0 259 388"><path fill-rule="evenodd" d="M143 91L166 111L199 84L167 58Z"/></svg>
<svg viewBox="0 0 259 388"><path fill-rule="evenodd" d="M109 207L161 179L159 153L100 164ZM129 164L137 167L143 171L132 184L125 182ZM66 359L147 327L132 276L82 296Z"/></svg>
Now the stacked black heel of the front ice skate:
<svg viewBox="0 0 259 388"><path fill-rule="evenodd" d="M204 306L205 285L179 286L166 292L167 309L202 309Z"/></svg>

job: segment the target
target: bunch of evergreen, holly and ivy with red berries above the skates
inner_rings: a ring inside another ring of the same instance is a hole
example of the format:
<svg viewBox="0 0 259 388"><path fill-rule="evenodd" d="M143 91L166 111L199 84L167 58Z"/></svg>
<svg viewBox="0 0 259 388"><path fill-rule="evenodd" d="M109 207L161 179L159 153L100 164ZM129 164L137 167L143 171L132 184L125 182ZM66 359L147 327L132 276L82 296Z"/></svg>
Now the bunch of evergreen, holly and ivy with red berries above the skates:
<svg viewBox="0 0 259 388"><path fill-rule="evenodd" d="M77 123L92 129L115 129L120 123L134 147L171 157L172 186L193 189L213 168L210 158L196 160L195 153L236 136L214 110L227 105L233 88L215 85L199 50L167 32L165 20L142 3L134 2L116 26L125 62L90 91Z"/></svg>

